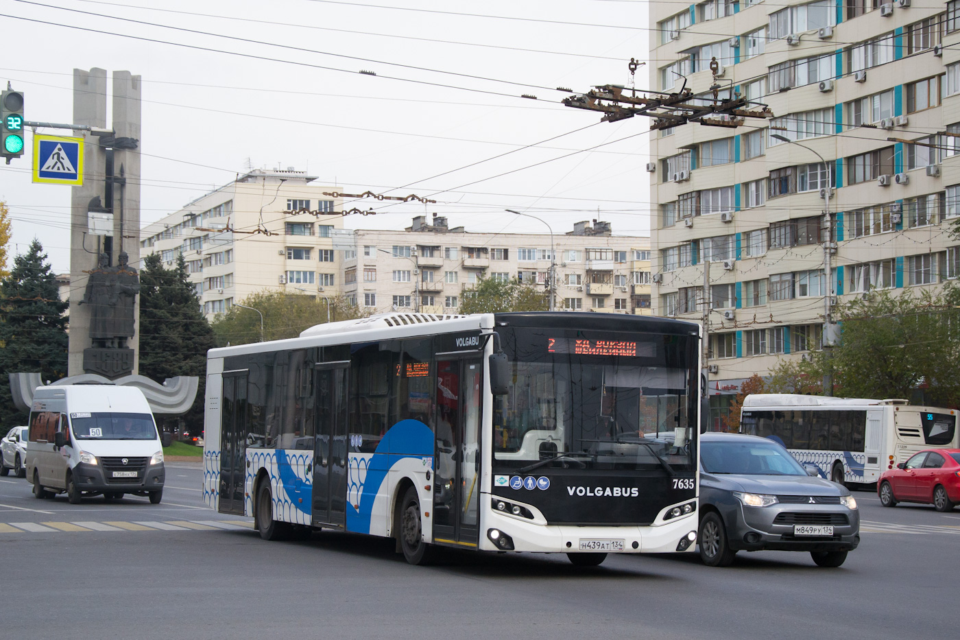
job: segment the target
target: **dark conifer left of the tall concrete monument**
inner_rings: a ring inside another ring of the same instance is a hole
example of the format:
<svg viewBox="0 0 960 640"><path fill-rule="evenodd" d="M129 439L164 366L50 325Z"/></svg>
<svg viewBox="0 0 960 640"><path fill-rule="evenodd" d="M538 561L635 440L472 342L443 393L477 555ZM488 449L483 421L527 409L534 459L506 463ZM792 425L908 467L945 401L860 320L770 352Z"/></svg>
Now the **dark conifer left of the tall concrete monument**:
<svg viewBox="0 0 960 640"><path fill-rule="evenodd" d="M36 238L27 253L13 258L0 281L0 434L25 425L13 406L10 374L38 372L43 380L66 376L67 319L47 255Z"/></svg>

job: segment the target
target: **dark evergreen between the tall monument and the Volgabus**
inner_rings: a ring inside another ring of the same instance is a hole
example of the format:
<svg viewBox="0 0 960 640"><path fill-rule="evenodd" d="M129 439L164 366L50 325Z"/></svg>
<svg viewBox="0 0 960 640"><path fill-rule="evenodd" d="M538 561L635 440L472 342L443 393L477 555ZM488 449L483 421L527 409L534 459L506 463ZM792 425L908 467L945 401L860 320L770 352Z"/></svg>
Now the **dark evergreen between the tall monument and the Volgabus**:
<svg viewBox="0 0 960 640"><path fill-rule="evenodd" d="M177 376L197 376L197 399L181 416L193 435L204 429L204 392L206 352L216 346L216 338L200 308L193 283L190 283L183 257L167 269L159 254L143 260L140 271L140 375L156 382ZM165 426L179 425L167 418Z"/></svg>

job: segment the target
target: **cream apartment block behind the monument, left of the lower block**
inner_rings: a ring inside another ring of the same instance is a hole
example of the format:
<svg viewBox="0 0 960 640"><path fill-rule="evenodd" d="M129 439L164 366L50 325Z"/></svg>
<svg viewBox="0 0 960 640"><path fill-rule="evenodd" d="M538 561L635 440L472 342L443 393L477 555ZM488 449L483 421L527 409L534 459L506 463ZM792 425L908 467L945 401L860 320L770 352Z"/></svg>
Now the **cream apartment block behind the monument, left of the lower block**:
<svg viewBox="0 0 960 640"><path fill-rule="evenodd" d="M268 288L338 295L343 282L343 218L334 187L292 169L253 170L146 226L141 255L164 264L183 256L204 313Z"/></svg>

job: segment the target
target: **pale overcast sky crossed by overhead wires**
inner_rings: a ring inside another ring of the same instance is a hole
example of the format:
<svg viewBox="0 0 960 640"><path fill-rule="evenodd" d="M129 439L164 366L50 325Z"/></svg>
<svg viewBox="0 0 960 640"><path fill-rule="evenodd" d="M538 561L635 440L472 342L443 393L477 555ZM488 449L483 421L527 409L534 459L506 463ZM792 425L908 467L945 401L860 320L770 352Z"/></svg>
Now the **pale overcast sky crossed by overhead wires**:
<svg viewBox="0 0 960 640"><path fill-rule="evenodd" d="M438 201L377 203L350 229L437 212L468 231L543 233L503 212L516 209L555 234L595 218L649 233L649 119L601 123L554 89L629 86L628 62L647 59L646 2L375 2L0 0L0 80L24 91L27 120L68 123L74 68L141 76L142 225L249 167L294 167L346 192ZM636 86L648 77L641 67ZM11 254L36 236L67 272L70 189L31 184L30 166L29 153L0 164Z"/></svg>

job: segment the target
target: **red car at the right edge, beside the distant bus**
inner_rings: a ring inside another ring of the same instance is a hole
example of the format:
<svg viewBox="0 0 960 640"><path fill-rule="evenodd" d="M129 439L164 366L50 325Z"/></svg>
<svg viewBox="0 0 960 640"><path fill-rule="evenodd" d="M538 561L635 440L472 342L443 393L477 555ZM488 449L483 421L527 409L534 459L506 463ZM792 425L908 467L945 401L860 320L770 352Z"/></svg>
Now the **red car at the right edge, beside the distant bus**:
<svg viewBox="0 0 960 640"><path fill-rule="evenodd" d="M876 482L880 504L932 504L949 511L960 503L960 449L928 449L884 471Z"/></svg>

